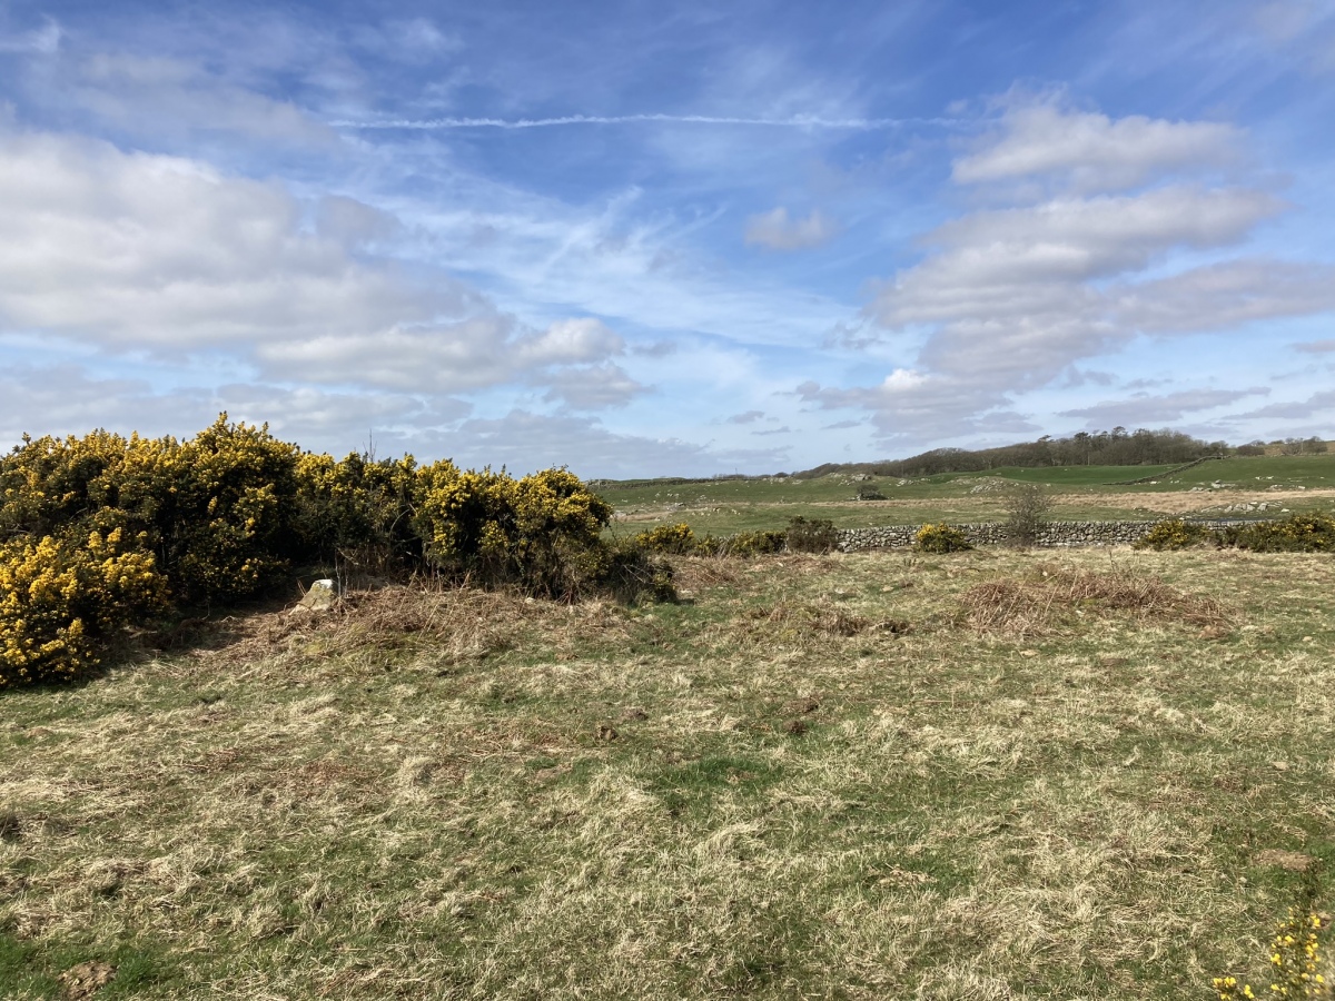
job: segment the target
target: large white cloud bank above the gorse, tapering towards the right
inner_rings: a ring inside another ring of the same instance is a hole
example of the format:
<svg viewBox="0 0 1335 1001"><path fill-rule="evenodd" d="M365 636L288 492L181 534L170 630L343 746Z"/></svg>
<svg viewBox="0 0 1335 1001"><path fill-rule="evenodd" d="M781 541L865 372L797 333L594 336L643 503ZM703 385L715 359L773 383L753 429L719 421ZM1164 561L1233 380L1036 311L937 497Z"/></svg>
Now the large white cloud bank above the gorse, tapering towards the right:
<svg viewBox="0 0 1335 1001"><path fill-rule="evenodd" d="M311 232L284 188L198 160L52 135L0 143L0 331L223 350L278 380L421 392L543 384L625 350L595 319L533 331L447 275L354 254L398 226L352 199L322 200ZM615 386L603 379L603 395L621 399Z"/></svg>

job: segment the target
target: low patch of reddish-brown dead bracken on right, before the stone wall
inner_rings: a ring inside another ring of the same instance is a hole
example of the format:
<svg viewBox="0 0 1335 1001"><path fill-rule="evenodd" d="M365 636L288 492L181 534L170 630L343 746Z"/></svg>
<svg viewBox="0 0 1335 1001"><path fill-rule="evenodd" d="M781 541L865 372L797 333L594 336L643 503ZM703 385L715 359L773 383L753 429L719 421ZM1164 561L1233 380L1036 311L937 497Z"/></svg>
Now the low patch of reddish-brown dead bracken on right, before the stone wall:
<svg viewBox="0 0 1335 1001"><path fill-rule="evenodd" d="M1232 621L1218 601L1187 594L1135 570L1059 569L999 578L971 587L961 595L961 605L976 631L1009 637L1041 635L1073 614L1088 611L1207 629L1226 627Z"/></svg>

